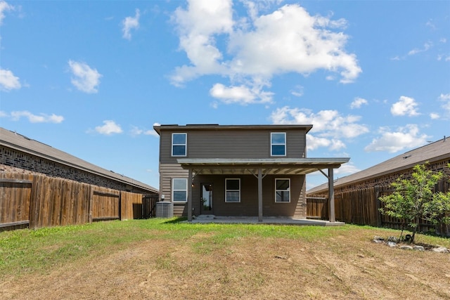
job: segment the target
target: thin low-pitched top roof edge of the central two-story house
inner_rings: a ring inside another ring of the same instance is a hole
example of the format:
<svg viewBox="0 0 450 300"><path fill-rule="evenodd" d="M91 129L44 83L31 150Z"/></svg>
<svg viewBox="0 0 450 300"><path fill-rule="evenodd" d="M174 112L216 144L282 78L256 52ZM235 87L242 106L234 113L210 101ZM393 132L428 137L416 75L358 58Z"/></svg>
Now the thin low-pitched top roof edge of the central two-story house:
<svg viewBox="0 0 450 300"><path fill-rule="evenodd" d="M259 129L270 129L270 130L277 130L277 129L304 129L306 130L306 133L310 131L312 128L312 125L305 124L305 125L219 125L219 124L187 124L187 125L158 125L153 126L153 129L155 129L158 134L161 133L162 129L169 129L169 130L230 130L230 129L237 129L237 130L259 130Z"/></svg>

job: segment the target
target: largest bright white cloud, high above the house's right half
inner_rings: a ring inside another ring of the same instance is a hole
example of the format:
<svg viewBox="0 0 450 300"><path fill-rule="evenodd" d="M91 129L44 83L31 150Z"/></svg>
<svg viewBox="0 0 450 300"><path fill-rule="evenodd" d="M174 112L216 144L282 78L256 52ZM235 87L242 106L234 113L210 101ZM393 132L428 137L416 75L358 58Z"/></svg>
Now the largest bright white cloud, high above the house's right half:
<svg viewBox="0 0 450 300"><path fill-rule="evenodd" d="M353 81L361 69L356 57L343 51L348 37L330 30L339 27L338 22L311 16L298 5L285 5L259 16L253 24L255 30L234 32L229 46L236 57L231 65L243 74L266 78L324 69L339 72L341 82Z"/></svg>

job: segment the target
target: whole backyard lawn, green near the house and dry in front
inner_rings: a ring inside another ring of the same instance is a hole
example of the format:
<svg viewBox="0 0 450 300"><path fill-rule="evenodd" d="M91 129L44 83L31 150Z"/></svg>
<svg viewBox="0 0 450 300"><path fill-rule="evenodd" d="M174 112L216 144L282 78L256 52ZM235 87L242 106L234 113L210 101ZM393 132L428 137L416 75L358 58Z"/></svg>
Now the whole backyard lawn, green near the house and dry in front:
<svg viewBox="0 0 450 300"><path fill-rule="evenodd" d="M441 272L442 285L450 282L450 254L390 249L372 242L374 235L398 237L399 230L179 221L110 221L0 233L0 282L5 282L0 287L6 291L0 292L0 298L58 299L61 294L51 294L53 287L85 287L86 282L103 277L103 283L91 291L97 297L105 296L102 291L115 291L120 297L136 296L134 289L116 289L117 282L110 282L110 278L117 277L125 286L141 280L139 290L160 299L184 298L183 291L190 288L197 296L215 299L289 299L293 293L310 299L394 299L397 287L420 288L419 298L450 296L450 292L439 289L439 280L433 279L433 274ZM448 238L418 235L416 242L450 248ZM416 261L421 265L417 273L408 269ZM411 266L404 266L407 264ZM409 276L406 280L394 282L393 278L404 274ZM73 277L73 281L62 283L61 277ZM373 284L370 280L363 284L361 278L371 278ZM419 278L419 282L411 278ZM162 285L167 280L172 282L170 293ZM304 286L297 287L298 280ZM178 285L172 286L174 282L184 282L185 286L178 289ZM281 292L280 284L289 288ZM23 285L30 285L30 289L18 291ZM371 296L375 289L381 291L380 298ZM277 290L279 297L272 297ZM90 298L79 294L84 292L80 288L64 296Z"/></svg>

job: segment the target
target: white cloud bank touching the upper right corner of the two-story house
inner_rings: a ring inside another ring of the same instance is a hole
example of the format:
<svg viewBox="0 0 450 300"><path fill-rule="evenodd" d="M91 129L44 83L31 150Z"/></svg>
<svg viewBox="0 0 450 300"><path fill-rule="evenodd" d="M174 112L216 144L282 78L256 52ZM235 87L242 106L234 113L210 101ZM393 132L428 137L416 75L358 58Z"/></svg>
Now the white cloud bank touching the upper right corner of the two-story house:
<svg viewBox="0 0 450 300"><path fill-rule="evenodd" d="M337 110L321 110L314 113L307 109L285 106L272 112L270 119L273 124L312 124L313 128L307 135L309 150L319 147L339 150L345 148L345 142L342 140L351 140L368 133L366 125L357 123L361 117L342 116Z"/></svg>

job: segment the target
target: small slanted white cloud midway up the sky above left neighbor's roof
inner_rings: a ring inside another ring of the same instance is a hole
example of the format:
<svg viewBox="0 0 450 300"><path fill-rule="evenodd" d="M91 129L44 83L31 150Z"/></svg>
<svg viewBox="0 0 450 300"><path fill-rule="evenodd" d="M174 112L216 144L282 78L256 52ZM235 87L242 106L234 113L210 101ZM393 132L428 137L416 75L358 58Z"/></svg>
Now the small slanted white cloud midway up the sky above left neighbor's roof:
<svg viewBox="0 0 450 300"><path fill-rule="evenodd" d="M102 74L98 73L96 69L92 69L86 63L76 62L69 60L70 72L72 72L71 82L85 93L97 93L98 84L100 84L100 78Z"/></svg>

